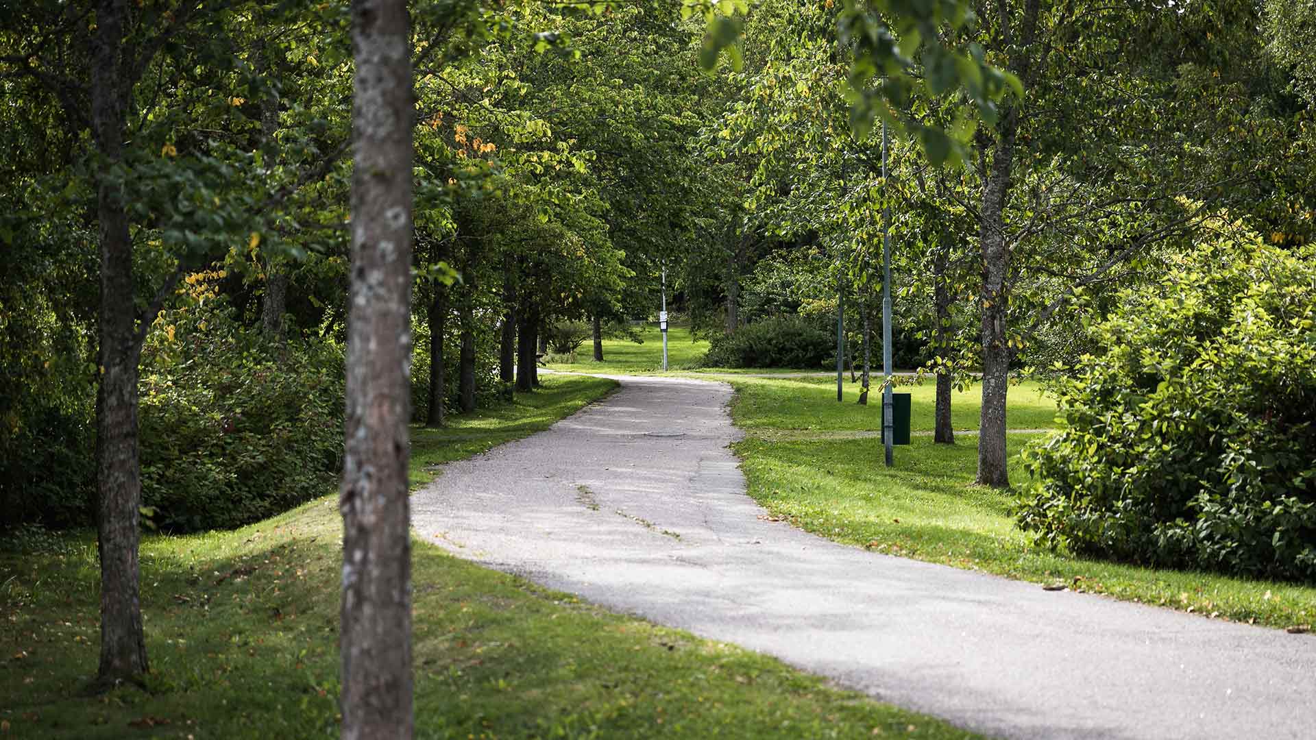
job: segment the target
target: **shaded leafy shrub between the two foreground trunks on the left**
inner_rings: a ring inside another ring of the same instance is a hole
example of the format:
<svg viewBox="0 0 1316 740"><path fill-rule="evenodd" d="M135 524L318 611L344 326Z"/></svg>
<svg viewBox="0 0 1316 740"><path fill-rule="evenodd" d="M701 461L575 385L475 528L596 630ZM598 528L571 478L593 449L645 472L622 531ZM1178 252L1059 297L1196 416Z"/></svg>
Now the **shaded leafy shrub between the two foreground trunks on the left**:
<svg viewBox="0 0 1316 740"><path fill-rule="evenodd" d="M222 299L162 315L141 382L142 502L171 532L232 528L332 489L342 461L342 350L286 352Z"/></svg>

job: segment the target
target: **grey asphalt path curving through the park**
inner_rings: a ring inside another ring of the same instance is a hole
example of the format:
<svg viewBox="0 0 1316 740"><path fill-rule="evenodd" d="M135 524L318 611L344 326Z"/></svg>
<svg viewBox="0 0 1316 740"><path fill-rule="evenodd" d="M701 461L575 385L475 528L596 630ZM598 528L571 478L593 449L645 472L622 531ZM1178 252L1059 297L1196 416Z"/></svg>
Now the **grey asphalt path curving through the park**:
<svg viewBox="0 0 1316 740"><path fill-rule="evenodd" d="M413 499L450 552L1004 737L1316 737L1316 637L865 552L762 519L730 387L619 378ZM679 435L679 436L678 436Z"/></svg>

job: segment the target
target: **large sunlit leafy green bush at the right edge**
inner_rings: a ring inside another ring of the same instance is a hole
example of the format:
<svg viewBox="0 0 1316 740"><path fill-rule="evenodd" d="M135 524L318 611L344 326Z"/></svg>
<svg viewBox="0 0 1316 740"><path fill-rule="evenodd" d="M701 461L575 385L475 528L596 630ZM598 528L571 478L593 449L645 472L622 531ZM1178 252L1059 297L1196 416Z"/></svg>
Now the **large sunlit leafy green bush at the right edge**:
<svg viewBox="0 0 1316 740"><path fill-rule="evenodd" d="M1024 452L1019 521L1048 545L1316 581L1316 250L1207 244L1091 329Z"/></svg>

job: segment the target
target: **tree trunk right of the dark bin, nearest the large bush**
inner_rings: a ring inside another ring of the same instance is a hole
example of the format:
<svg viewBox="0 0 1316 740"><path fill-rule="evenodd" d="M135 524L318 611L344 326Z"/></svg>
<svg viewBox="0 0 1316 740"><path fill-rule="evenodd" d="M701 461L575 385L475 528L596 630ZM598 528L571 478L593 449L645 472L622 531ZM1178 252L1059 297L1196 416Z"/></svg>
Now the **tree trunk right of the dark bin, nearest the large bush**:
<svg viewBox="0 0 1316 740"><path fill-rule="evenodd" d="M978 424L978 478L984 486L1009 486L1005 458L1005 394L1009 390L1009 352L1005 345L1005 277L1009 245L1005 241L1003 211L1009 194L1009 171L1015 153L1017 108L1009 108L1001 121L1000 138L991 170L983 186L982 207L982 344L983 402Z"/></svg>

